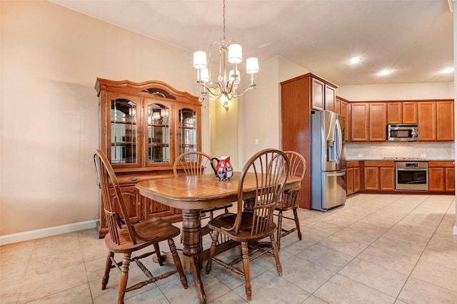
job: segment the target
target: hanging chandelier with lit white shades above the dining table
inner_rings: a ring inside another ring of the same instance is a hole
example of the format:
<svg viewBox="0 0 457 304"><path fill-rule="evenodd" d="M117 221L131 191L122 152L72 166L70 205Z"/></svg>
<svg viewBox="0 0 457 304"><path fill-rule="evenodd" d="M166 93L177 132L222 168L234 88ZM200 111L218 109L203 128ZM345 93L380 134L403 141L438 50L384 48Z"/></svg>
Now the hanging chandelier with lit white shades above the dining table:
<svg viewBox="0 0 457 304"><path fill-rule="evenodd" d="M222 38L209 46L209 61L206 60L205 51L194 52L194 68L197 69L197 85L201 87L199 100L203 101L205 96L209 94L212 98L219 99L224 108L228 110L228 100L256 88L254 74L258 72L258 59L256 57L246 59L246 73L251 74L251 84L242 93L238 93L240 83L238 63L243 61L243 55L239 44L233 40L226 40L226 0L224 0L222 17L224 19ZM211 80L211 48L215 45L219 47L219 75L217 81L213 82Z"/></svg>

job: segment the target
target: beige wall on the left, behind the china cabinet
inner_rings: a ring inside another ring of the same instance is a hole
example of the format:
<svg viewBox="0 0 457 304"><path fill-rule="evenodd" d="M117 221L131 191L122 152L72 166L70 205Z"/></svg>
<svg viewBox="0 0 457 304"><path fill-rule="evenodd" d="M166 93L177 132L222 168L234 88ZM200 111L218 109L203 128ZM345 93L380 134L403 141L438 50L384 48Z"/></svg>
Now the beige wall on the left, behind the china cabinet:
<svg viewBox="0 0 457 304"><path fill-rule="evenodd" d="M197 95L191 52L48 1L0 9L0 236L96 219L96 78ZM203 113L209 151L208 105Z"/></svg>

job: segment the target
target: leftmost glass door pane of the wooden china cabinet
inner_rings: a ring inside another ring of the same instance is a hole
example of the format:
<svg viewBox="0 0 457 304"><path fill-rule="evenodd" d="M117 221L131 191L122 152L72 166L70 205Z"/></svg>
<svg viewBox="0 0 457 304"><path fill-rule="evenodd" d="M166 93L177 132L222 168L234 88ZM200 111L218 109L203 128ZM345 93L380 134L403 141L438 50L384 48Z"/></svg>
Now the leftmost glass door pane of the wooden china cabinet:
<svg viewBox="0 0 457 304"><path fill-rule="evenodd" d="M137 103L130 98L110 98L111 121L111 164L125 164L129 167L139 163Z"/></svg>

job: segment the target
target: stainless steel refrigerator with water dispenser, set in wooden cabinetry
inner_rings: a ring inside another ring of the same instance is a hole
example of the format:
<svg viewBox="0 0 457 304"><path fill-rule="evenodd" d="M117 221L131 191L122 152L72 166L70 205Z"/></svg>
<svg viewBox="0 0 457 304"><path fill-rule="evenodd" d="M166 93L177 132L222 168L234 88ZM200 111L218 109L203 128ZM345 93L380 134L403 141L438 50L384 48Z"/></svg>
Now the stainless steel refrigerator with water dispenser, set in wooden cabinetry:
<svg viewBox="0 0 457 304"><path fill-rule="evenodd" d="M331 111L311 114L311 208L321 211L346 202L345 121Z"/></svg>

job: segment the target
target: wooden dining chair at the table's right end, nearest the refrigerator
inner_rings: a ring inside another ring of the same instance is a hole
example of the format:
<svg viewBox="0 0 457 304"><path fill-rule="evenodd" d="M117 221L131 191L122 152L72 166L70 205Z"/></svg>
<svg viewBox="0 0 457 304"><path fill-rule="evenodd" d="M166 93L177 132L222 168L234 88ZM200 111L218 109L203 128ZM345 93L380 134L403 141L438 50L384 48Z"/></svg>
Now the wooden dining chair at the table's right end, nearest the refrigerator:
<svg viewBox="0 0 457 304"><path fill-rule="evenodd" d="M278 214L278 231L276 236L276 242L278 243L278 249L281 248L281 237L291 234L293 231L297 231L298 239L301 240L301 231L300 231L300 221L298 221L298 214L297 209L298 206L296 205L296 200L298 193L301 191L301 182L303 182L303 177L305 177L306 173L306 160L305 158L298 152L295 151L285 151L289 162L290 167L288 170L289 176L301 176L300 186L294 189L289 189L281 194L281 198L278 200L278 204L276 205L276 211ZM283 216L283 211L293 211L293 218L288 216ZM295 221L295 227L293 229L283 229L282 222L283 219L291 219Z"/></svg>

